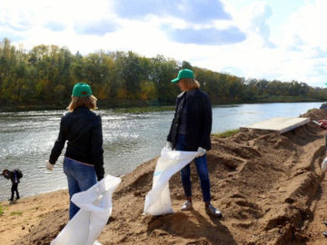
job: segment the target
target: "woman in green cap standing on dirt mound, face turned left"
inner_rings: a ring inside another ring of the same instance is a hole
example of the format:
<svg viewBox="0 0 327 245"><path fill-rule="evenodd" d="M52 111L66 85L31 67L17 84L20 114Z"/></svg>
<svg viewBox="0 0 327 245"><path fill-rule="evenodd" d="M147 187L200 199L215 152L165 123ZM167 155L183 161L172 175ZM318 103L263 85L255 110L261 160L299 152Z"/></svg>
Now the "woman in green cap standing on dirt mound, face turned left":
<svg viewBox="0 0 327 245"><path fill-rule="evenodd" d="M206 151L211 149L213 121L210 98L199 89L200 83L195 80L192 70L180 70L172 83L177 83L182 93L177 96L173 122L167 136L167 147L177 151L197 152L194 162L200 177L205 211L209 215L222 218L222 212L210 203L210 179L206 160ZM182 211L193 209L190 164L181 171L186 198Z"/></svg>

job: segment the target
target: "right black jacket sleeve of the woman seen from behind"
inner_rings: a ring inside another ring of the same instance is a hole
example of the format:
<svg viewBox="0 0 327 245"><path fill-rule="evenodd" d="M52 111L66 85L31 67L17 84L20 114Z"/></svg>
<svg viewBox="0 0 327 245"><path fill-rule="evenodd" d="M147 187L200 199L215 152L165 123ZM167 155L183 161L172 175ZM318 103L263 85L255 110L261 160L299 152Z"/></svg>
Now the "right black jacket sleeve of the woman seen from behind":
<svg viewBox="0 0 327 245"><path fill-rule="evenodd" d="M101 116L97 115L95 121L91 136L92 158L97 180L101 181L104 179L104 149Z"/></svg>

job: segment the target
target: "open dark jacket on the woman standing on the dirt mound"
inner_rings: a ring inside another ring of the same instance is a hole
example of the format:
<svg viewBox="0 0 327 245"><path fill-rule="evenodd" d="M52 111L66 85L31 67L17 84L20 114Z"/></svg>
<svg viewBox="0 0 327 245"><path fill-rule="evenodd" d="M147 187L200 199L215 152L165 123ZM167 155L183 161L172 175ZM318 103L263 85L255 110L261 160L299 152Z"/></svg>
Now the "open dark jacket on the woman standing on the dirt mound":
<svg viewBox="0 0 327 245"><path fill-rule="evenodd" d="M184 97L187 106L185 151L197 151L199 147L211 149L210 134L213 124L212 106L209 96L199 89L193 89L177 96L173 122L167 136L167 141L176 146L176 135L180 125L182 110L178 110Z"/></svg>

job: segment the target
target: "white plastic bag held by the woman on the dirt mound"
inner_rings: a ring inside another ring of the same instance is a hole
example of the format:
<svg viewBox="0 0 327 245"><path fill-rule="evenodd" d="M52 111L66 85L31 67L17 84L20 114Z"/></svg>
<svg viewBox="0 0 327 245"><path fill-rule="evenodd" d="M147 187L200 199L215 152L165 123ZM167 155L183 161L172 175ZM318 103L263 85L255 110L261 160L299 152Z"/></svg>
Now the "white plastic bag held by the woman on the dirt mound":
<svg viewBox="0 0 327 245"><path fill-rule="evenodd" d="M145 196L144 214L163 215L173 212L169 180L174 173L193 161L196 153L163 148L155 166L153 188Z"/></svg>

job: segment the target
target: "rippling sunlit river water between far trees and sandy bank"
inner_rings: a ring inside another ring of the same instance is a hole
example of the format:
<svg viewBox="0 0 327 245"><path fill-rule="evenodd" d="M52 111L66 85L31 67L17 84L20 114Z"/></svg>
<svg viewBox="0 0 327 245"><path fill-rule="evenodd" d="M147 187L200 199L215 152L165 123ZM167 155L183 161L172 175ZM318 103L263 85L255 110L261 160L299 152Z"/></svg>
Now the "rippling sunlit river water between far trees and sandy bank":
<svg viewBox="0 0 327 245"><path fill-rule="evenodd" d="M224 132L272 117L298 117L322 103L252 103L213 106L213 131ZM61 111L0 113L0 170L19 168L24 177L21 196L67 188L63 154L54 171L45 160L58 135ZM133 171L159 155L173 119L173 111L130 113L99 110L103 120L104 169L115 176ZM0 176L0 201L10 197L11 182Z"/></svg>

